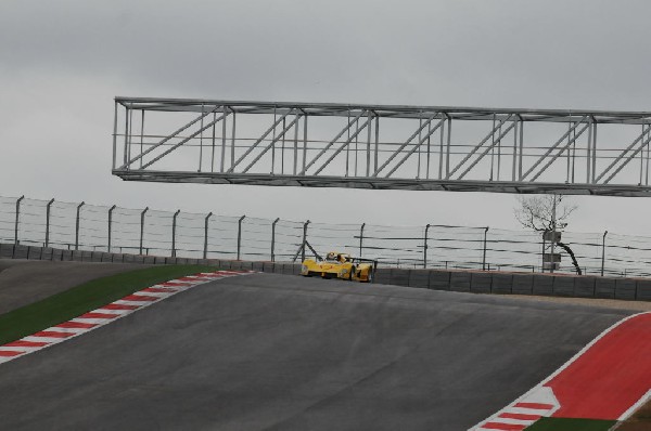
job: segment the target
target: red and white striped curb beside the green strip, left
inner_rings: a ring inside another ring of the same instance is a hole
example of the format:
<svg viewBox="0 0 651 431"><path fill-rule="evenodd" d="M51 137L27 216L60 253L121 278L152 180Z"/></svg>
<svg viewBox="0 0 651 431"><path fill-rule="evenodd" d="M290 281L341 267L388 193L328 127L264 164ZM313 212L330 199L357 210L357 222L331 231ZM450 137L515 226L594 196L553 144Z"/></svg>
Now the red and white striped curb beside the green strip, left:
<svg viewBox="0 0 651 431"><path fill-rule="evenodd" d="M0 345L0 364L87 334L93 329L107 325L111 322L115 322L120 317L127 316L137 310L144 309L145 306L176 293L188 290L191 287L219 278L248 274L253 274L253 272L215 271L213 273L188 275L148 287L71 321L63 322L28 337Z"/></svg>

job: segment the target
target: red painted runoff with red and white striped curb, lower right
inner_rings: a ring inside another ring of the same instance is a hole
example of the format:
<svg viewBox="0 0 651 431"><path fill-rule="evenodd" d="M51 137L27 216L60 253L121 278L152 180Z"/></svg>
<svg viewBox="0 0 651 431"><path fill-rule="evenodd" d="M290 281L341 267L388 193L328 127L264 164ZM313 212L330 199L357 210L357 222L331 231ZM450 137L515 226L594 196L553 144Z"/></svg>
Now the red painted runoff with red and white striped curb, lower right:
<svg viewBox="0 0 651 431"><path fill-rule="evenodd" d="M541 417L625 420L651 397L651 313L628 316L470 431L520 431Z"/></svg>

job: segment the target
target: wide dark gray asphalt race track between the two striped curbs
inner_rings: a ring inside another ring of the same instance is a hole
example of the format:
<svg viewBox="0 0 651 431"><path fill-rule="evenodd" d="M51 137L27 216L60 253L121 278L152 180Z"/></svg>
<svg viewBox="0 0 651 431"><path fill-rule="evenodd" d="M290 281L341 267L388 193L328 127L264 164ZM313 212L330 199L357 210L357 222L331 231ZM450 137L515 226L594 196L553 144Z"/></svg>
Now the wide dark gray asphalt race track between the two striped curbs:
<svg viewBox="0 0 651 431"><path fill-rule="evenodd" d="M0 365L1 428L467 430L629 314L226 278Z"/></svg>

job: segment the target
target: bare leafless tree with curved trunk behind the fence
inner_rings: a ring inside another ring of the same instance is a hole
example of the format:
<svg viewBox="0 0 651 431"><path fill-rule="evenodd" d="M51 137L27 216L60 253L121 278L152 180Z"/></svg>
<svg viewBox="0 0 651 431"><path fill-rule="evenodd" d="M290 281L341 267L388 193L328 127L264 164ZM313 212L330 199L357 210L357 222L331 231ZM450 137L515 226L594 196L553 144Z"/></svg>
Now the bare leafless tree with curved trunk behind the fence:
<svg viewBox="0 0 651 431"><path fill-rule="evenodd" d="M577 208L576 205L564 201L563 195L521 196L518 201L520 207L515 208L515 219L524 227L536 232L563 232L567 227L567 219ZM570 246L561 241L556 244L570 254L576 273L582 275Z"/></svg>

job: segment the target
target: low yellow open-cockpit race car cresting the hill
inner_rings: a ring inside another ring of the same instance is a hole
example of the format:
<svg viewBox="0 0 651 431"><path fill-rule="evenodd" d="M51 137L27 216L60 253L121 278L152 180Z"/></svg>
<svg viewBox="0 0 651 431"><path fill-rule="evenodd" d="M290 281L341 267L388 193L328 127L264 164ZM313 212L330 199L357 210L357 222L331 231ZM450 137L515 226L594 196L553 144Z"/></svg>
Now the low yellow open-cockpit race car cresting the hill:
<svg viewBox="0 0 651 431"><path fill-rule="evenodd" d="M306 259L301 267L301 275L314 275L323 278L341 278L347 280L371 283L376 262L368 259L352 258L347 253L331 251L324 259Z"/></svg>

